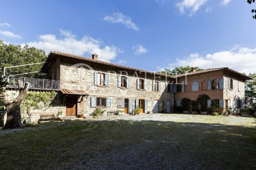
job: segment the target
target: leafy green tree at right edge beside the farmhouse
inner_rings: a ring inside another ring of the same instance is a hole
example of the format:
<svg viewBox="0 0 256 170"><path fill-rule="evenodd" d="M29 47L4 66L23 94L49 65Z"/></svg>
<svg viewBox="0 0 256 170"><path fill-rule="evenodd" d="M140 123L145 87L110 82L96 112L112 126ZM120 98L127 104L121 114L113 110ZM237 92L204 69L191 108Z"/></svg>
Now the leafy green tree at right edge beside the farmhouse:
<svg viewBox="0 0 256 170"><path fill-rule="evenodd" d="M245 83L245 105L251 112L256 112L256 74L249 74L252 80Z"/></svg>

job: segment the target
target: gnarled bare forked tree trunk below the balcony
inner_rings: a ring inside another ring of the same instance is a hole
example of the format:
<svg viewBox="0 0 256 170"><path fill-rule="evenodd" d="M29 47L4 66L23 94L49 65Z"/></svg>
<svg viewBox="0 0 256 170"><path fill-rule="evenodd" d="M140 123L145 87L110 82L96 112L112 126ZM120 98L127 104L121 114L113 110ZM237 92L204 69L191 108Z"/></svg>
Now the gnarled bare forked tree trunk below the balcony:
<svg viewBox="0 0 256 170"><path fill-rule="evenodd" d="M18 81L19 94L17 98L10 102L6 96L2 100L2 103L6 107L7 120L3 129L14 129L14 128L23 128L22 119L20 115L20 104L22 104L28 93L29 83L23 86L23 81Z"/></svg>

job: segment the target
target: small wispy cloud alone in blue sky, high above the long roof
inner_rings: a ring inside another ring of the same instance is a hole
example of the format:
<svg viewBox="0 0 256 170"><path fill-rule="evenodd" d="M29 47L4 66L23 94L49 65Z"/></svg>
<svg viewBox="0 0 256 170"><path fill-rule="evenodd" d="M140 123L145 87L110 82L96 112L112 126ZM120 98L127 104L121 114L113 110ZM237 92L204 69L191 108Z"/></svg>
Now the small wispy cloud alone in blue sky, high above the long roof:
<svg viewBox="0 0 256 170"><path fill-rule="evenodd" d="M105 21L111 21L113 23L122 23L127 28L134 29L135 31L138 31L139 28L135 25L134 22L132 22L132 18L130 18L127 15L123 15L120 12L113 13L112 16L108 15L104 17Z"/></svg>

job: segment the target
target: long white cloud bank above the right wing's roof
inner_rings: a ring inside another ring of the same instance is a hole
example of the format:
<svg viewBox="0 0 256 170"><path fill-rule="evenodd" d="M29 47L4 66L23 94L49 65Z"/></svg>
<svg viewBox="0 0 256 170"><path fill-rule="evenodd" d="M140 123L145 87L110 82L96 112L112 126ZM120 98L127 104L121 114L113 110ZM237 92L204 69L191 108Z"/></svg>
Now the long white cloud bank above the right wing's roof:
<svg viewBox="0 0 256 170"><path fill-rule="evenodd" d="M175 66L199 66L200 68L216 68L216 67L229 67L231 69L245 72L256 73L256 48L250 49L234 46L230 51L216 52L214 54L207 54L200 56L198 53L190 54L183 59L177 59L176 62L170 63L168 68L173 69ZM163 68L158 68L163 70Z"/></svg>

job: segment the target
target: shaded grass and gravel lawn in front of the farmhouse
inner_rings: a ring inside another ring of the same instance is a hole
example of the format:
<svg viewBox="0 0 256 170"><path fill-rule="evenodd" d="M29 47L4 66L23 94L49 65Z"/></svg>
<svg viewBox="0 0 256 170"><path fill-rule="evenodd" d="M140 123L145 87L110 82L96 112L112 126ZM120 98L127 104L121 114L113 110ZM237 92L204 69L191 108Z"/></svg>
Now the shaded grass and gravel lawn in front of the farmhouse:
<svg viewBox="0 0 256 170"><path fill-rule="evenodd" d="M254 122L154 114L0 130L0 169L256 169Z"/></svg>

